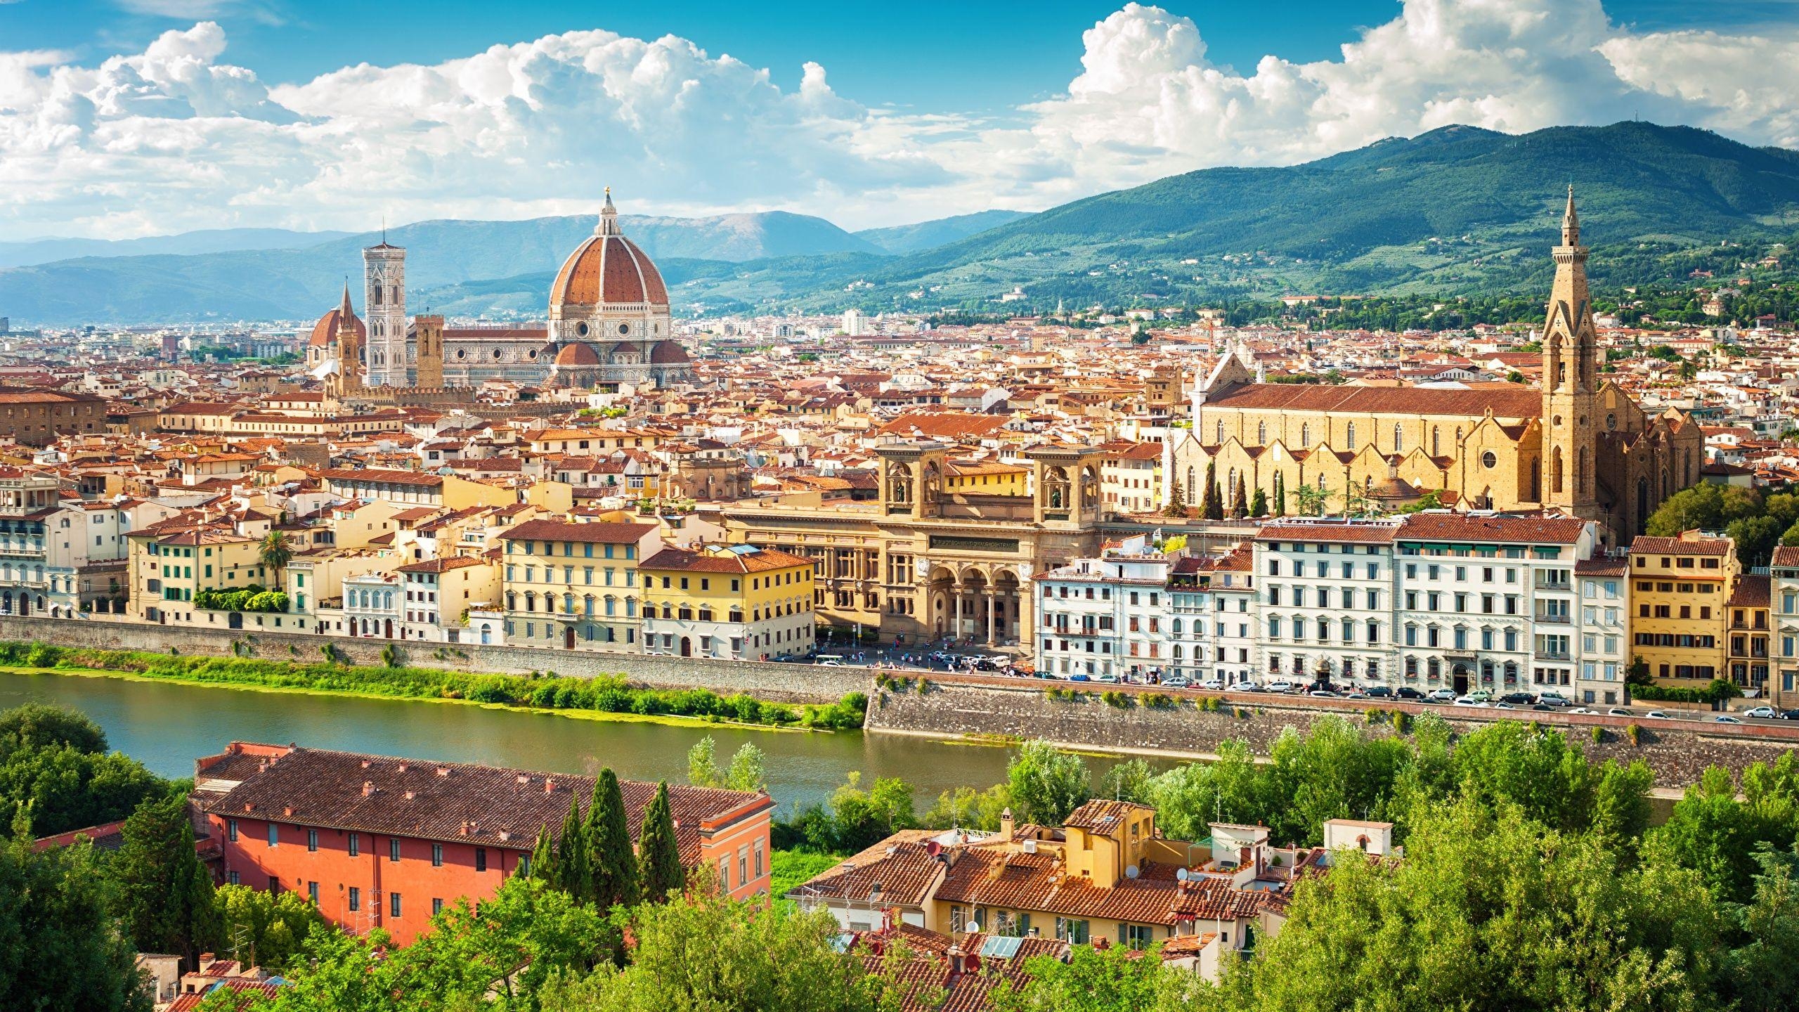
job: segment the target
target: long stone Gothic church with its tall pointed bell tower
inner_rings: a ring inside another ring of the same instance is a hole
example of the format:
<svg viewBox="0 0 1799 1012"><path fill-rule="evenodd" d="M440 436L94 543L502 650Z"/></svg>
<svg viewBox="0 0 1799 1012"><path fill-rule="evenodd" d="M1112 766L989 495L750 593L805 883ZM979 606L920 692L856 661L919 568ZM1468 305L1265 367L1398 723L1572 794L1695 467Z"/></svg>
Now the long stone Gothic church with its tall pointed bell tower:
<svg viewBox="0 0 1799 1012"><path fill-rule="evenodd" d="M1193 394L1193 429L1169 441L1166 474L1189 504L1213 465L1225 502L1240 475L1270 510L1279 481L1288 513L1299 486L1322 492L1331 513L1436 492L1461 510L1599 520L1626 544L1662 499L1698 483L1704 438L1686 414L1651 416L1599 380L1572 191L1553 256L1542 389L1263 384L1240 351Z"/></svg>

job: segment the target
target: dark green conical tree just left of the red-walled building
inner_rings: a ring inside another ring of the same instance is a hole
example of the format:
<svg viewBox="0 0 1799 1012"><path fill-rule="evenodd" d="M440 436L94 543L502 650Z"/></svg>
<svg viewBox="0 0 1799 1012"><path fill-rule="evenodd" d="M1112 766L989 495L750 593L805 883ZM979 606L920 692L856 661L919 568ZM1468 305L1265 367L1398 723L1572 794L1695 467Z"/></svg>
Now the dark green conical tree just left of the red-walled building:
<svg viewBox="0 0 1799 1012"><path fill-rule="evenodd" d="M122 827L124 843L108 863L113 909L140 953L182 956L200 969L200 953L219 942L212 873L194 852L187 798L151 798Z"/></svg>

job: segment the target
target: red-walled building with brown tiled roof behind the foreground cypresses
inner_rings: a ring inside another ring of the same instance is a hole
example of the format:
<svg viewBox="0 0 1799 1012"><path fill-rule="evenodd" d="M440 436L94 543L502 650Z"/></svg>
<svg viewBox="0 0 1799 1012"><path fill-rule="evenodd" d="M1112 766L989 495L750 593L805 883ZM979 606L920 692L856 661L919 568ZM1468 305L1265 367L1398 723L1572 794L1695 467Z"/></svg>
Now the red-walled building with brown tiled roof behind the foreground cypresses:
<svg viewBox="0 0 1799 1012"><path fill-rule="evenodd" d="M621 787L635 841L657 785ZM592 796L592 776L297 745L232 742L194 762L219 877L304 893L333 924L401 944L443 904L498 890ZM768 794L671 785L669 803L682 864L716 868L736 899L768 891Z"/></svg>

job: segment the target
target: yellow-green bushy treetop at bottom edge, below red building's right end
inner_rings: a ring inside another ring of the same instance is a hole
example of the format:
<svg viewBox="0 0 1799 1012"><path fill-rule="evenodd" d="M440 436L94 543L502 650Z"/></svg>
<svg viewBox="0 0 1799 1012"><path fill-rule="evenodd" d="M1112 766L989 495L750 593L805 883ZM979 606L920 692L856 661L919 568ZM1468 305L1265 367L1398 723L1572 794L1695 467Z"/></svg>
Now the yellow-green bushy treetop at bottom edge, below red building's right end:
<svg viewBox="0 0 1799 1012"><path fill-rule="evenodd" d="M838 953L828 911L784 913L702 891L631 911L630 965L558 978L565 1012L874 1012L862 960Z"/></svg>

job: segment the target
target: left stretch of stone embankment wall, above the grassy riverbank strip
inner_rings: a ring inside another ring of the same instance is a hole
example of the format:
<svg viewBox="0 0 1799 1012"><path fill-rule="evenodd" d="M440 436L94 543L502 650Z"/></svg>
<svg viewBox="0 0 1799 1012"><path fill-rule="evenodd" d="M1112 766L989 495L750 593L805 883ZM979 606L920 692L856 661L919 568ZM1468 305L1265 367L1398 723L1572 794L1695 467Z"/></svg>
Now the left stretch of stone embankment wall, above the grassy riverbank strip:
<svg viewBox="0 0 1799 1012"><path fill-rule="evenodd" d="M0 616L0 641L54 643L58 646L97 646L104 650L149 650L183 655L264 661L320 661L320 648L331 646L351 664L381 664L381 648L392 645L401 664L524 675L622 675L651 688L709 688L721 695L747 691L777 702L837 702L844 693L873 688L869 672L860 668L820 668L813 664L777 664L763 661L711 661L702 657L649 657L644 654L601 654L590 650L541 650L531 646L480 646L444 643L399 643L390 639L354 639L306 632L264 632L187 628L108 619L16 618Z"/></svg>

